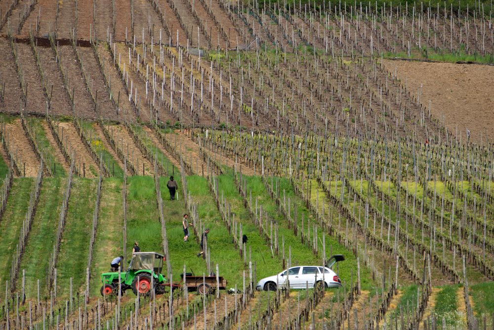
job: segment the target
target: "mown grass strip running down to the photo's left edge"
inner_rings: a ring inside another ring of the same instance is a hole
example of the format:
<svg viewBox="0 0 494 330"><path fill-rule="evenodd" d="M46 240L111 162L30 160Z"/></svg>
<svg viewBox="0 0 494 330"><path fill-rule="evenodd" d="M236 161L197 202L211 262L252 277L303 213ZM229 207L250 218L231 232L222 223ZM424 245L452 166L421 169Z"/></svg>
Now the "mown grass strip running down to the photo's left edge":
<svg viewBox="0 0 494 330"><path fill-rule="evenodd" d="M16 178L7 199L5 213L0 221L0 282L10 281L12 258L19 242L22 222L29 207L29 196L33 189L32 178Z"/></svg>

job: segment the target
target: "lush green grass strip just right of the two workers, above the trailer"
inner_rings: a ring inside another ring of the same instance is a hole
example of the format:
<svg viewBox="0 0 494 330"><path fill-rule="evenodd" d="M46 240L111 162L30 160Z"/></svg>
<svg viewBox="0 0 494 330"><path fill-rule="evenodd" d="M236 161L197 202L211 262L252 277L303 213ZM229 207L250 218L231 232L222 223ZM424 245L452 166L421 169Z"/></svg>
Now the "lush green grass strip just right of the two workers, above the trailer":
<svg viewBox="0 0 494 330"><path fill-rule="evenodd" d="M187 183L191 198L197 204L199 218L203 221L204 227L210 229L207 244L211 251L211 262L218 264L219 275L228 281L229 287L233 287L235 284L241 287L245 269L244 260L241 259L238 249L233 244L232 236L221 219L206 178L189 176ZM193 228L190 228L189 231L192 232ZM198 234L201 235L201 233ZM200 240L200 237L198 238ZM195 245L199 248L197 243ZM212 266L215 267L215 265ZM248 283L248 267L246 276Z"/></svg>

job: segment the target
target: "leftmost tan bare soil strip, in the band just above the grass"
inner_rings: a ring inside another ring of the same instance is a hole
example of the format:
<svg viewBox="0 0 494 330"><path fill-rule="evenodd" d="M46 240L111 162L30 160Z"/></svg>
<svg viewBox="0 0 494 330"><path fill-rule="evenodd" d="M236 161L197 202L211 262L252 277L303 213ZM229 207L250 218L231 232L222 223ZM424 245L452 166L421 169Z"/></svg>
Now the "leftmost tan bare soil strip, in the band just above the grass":
<svg viewBox="0 0 494 330"><path fill-rule="evenodd" d="M24 176L23 172L25 166L25 176L36 177L40 170L40 162L38 161L38 158L36 158L36 154L24 134L21 120L16 119L13 124L6 124L5 131L10 143L10 152L14 155L14 160L17 158L17 165L21 171L21 176Z"/></svg>

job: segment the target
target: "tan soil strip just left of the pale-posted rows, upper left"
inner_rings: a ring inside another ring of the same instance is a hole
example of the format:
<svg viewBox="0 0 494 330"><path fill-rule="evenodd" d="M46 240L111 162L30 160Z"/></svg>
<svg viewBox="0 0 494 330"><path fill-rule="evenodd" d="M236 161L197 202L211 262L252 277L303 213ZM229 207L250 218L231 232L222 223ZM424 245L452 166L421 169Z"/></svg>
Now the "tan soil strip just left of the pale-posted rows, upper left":
<svg viewBox="0 0 494 330"><path fill-rule="evenodd" d="M124 83L120 79L119 73L113 65L113 58L111 53L106 47L101 44L98 46L98 53L100 54L101 61L103 62L102 64L104 64L103 68L105 76L108 84L111 87L113 97L115 97L115 100L120 108L117 117L119 118L119 120L124 119L127 121L134 121L136 117L134 109L132 108L132 105L128 100L128 94L125 92ZM116 54L116 56L118 61L118 53Z"/></svg>

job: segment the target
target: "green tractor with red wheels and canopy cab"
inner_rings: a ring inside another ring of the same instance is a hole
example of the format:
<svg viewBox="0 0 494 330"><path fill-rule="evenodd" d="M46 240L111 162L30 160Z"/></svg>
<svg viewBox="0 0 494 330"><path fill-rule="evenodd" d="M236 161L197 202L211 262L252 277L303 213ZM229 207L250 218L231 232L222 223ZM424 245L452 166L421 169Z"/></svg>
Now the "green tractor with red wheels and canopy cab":
<svg viewBox="0 0 494 330"><path fill-rule="evenodd" d="M135 295L147 295L151 292L152 285L156 293L165 292L165 276L161 274L165 257L156 252L137 252L132 259L126 272L121 272L120 290L132 289ZM100 293L102 296L117 294L119 289L119 273L110 272L101 274Z"/></svg>

